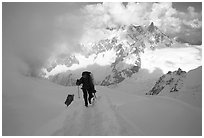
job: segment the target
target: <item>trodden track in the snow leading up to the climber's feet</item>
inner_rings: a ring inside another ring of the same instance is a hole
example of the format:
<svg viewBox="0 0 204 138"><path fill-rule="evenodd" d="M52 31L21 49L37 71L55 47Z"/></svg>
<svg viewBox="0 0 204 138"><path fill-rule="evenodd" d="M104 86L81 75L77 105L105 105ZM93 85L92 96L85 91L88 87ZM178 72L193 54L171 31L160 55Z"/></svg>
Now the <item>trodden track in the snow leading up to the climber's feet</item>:
<svg viewBox="0 0 204 138"><path fill-rule="evenodd" d="M58 120L61 127L52 130L49 135L58 136L121 136L121 135L143 135L143 133L130 122L125 120L114 108L109 98L103 93L98 95L94 105L88 108L82 106L83 101L75 101L68 107L61 119L56 119L50 125L56 125ZM63 119L62 119L63 118ZM46 129L49 129L47 127ZM41 132L45 130L41 130ZM39 135L42 135L38 133ZM44 134L48 135L48 134Z"/></svg>

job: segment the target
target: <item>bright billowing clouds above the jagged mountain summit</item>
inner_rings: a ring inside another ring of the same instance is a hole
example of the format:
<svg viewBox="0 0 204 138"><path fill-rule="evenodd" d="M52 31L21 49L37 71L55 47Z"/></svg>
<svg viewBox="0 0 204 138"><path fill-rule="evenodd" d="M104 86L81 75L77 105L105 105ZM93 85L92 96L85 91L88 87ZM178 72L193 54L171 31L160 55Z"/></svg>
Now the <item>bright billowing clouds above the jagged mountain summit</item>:
<svg viewBox="0 0 204 138"><path fill-rule="evenodd" d="M87 22L82 42L85 42L84 40L86 42L98 41L100 38L107 37L109 33L105 30L106 27L114 28L129 24L149 25L154 22L163 32L172 37L177 35L186 37L186 34L190 34L188 36L192 39L195 39L194 32L200 34L202 28L201 12L195 12L193 7L188 7L186 13L180 12L168 2L141 2L125 5L123 3L100 3L85 6L83 12ZM199 41L202 41L201 36Z"/></svg>

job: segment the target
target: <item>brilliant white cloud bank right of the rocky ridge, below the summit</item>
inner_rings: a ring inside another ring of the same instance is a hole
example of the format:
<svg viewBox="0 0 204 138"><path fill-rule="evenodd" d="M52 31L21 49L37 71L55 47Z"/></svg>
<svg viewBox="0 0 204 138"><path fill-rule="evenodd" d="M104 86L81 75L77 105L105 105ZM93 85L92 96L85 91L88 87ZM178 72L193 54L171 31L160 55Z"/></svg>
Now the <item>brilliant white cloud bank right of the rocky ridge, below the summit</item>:
<svg viewBox="0 0 204 138"><path fill-rule="evenodd" d="M201 46L188 48L165 48L156 51L146 50L141 54L141 68L153 72L159 68L163 73L175 71L178 68L189 71L201 66ZM174 56L172 56L174 55ZM179 59L179 60L178 60Z"/></svg>

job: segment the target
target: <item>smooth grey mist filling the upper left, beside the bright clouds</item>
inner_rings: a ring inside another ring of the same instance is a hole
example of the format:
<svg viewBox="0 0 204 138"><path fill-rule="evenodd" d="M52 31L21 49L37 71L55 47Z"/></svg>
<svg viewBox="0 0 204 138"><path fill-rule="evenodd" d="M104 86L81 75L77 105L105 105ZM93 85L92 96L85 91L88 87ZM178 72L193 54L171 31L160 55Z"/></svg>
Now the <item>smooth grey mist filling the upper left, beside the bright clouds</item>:
<svg viewBox="0 0 204 138"><path fill-rule="evenodd" d="M50 57L79 50L83 18L76 9L80 7L74 3L3 3L3 59L8 54L15 56L25 64L27 74L37 76Z"/></svg>

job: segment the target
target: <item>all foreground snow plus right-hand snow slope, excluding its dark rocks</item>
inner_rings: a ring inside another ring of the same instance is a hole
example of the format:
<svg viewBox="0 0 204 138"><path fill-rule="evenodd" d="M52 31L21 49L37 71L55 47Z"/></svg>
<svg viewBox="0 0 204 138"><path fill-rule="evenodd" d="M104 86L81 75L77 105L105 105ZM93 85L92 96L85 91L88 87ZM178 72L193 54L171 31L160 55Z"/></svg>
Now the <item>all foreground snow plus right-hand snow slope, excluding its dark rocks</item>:
<svg viewBox="0 0 204 138"><path fill-rule="evenodd" d="M145 96L163 72L142 69L116 88L97 86L96 103L86 108L77 87L31 77L21 60L3 56L3 136L202 135L201 67L188 72L177 98ZM75 95L68 108L67 94Z"/></svg>

